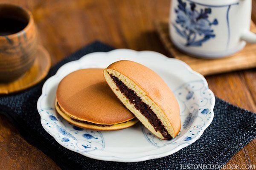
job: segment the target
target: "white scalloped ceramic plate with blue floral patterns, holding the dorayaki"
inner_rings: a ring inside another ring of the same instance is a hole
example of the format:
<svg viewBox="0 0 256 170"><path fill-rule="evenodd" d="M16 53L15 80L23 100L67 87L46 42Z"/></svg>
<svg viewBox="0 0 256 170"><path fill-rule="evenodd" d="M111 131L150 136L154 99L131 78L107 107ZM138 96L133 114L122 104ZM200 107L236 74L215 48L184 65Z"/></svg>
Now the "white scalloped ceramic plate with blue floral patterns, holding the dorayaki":
<svg viewBox="0 0 256 170"><path fill-rule="evenodd" d="M160 140L141 123L117 131L82 129L70 125L56 113L55 93L63 77L82 68L106 68L123 59L151 68L175 93L180 105L182 124L175 139ZM67 149L93 159L136 162L168 156L195 142L212 122L214 104L215 97L209 90L207 81L184 62L153 51L117 49L87 54L77 61L63 65L44 83L37 108L44 129Z"/></svg>

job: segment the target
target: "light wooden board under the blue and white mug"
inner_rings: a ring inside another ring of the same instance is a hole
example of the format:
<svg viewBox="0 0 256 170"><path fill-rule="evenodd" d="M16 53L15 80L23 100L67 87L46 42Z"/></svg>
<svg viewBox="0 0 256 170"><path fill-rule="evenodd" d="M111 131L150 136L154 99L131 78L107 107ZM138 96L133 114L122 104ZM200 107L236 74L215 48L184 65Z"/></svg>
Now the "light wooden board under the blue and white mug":
<svg viewBox="0 0 256 170"><path fill-rule="evenodd" d="M256 67L256 44L247 44L245 48L231 57L221 59L199 59L190 57L178 51L169 38L169 21L155 21L155 27L163 45L176 59L186 62L193 70L202 75L225 73ZM256 32L256 26L251 21L251 31Z"/></svg>

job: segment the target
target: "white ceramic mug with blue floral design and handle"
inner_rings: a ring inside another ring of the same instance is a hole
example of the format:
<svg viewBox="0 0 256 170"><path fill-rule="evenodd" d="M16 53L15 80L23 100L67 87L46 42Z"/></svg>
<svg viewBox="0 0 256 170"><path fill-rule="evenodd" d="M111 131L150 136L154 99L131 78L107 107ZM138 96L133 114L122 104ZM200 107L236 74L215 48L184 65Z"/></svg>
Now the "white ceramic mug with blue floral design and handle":
<svg viewBox="0 0 256 170"><path fill-rule="evenodd" d="M230 56L256 43L251 0L172 0L169 31L181 51L203 58Z"/></svg>

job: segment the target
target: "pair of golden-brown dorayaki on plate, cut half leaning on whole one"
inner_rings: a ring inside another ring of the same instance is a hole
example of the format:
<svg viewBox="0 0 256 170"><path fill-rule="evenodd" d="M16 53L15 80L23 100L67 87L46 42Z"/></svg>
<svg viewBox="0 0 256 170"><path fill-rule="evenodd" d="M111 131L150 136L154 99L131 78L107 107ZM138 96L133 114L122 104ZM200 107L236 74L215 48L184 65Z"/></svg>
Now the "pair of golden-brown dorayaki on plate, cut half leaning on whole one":
<svg viewBox="0 0 256 170"><path fill-rule="evenodd" d="M124 129L139 120L160 139L172 139L181 126L168 85L151 69L127 60L68 74L58 85L55 108L71 124L94 130Z"/></svg>

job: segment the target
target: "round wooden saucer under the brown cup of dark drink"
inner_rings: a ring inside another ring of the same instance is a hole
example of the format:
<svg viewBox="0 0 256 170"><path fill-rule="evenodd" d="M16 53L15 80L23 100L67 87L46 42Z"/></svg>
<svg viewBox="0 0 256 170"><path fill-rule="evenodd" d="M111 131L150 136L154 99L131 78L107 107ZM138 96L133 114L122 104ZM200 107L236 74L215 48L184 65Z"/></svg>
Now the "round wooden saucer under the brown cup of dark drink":
<svg viewBox="0 0 256 170"><path fill-rule="evenodd" d="M25 90L46 77L51 66L50 55L43 46L38 46L35 55L34 64L22 77L13 82L0 83L0 94L10 94Z"/></svg>

